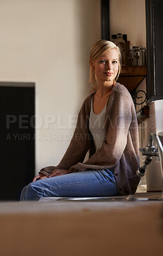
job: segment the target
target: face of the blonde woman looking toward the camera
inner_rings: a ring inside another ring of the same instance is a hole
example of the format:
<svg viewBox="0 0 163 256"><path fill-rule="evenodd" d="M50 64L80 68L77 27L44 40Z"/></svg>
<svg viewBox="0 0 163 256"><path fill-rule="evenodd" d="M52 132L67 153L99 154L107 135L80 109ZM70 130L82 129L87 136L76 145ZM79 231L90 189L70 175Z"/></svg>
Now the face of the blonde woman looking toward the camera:
<svg viewBox="0 0 163 256"><path fill-rule="evenodd" d="M95 69L98 83L108 82L113 85L114 79L118 74L118 51L117 49L109 49L102 54L91 67Z"/></svg>

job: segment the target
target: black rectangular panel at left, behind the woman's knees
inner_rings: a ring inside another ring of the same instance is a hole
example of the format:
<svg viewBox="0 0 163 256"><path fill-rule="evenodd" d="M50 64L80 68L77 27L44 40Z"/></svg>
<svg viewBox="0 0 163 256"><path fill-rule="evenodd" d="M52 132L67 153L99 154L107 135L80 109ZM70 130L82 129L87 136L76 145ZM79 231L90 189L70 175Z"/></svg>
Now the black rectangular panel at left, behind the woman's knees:
<svg viewBox="0 0 163 256"><path fill-rule="evenodd" d="M1 84L0 200L19 200L35 175L35 86Z"/></svg>

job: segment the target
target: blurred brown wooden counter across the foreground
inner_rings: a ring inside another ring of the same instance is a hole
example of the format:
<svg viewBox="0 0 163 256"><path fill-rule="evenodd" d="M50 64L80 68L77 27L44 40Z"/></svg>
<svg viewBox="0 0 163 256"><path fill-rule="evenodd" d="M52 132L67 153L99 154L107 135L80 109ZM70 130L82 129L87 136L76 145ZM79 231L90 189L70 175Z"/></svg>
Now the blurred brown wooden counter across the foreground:
<svg viewBox="0 0 163 256"><path fill-rule="evenodd" d="M57 199L1 202L0 255L162 255L162 201Z"/></svg>

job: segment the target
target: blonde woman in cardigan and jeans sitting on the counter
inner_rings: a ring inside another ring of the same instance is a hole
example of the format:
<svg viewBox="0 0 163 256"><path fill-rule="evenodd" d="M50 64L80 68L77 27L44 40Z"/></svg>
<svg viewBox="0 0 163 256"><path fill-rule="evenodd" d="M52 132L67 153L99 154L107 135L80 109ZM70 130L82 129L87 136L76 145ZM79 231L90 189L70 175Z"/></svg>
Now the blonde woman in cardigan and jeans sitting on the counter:
<svg viewBox="0 0 163 256"><path fill-rule="evenodd" d="M65 156L58 166L40 170L20 200L135 193L139 183L137 117L130 93L116 83L120 59L120 49L113 42L99 40L93 45L89 81L96 90L82 104ZM83 163L88 150L89 159Z"/></svg>

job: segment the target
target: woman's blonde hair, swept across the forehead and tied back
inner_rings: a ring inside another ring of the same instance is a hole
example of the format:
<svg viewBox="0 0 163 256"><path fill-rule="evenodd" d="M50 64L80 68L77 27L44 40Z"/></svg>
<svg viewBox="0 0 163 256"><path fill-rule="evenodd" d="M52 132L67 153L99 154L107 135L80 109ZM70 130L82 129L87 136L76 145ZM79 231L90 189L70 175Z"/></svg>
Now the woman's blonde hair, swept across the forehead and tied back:
<svg viewBox="0 0 163 256"><path fill-rule="evenodd" d="M118 73L115 78L115 81L117 81L118 77L120 76L120 72L121 72L121 64L120 64L121 63L121 52L120 52L120 48L118 46L116 46L116 44L114 44L111 41L107 41L107 40L97 41L91 47L89 59L91 61L95 61L100 56L102 56L102 54L104 54L105 51L107 51L109 49L117 49L117 51L118 51ZM90 71L89 71L89 83L92 83L94 85L95 90L98 89L97 76L95 74L95 70L93 70L91 67L90 67Z"/></svg>

